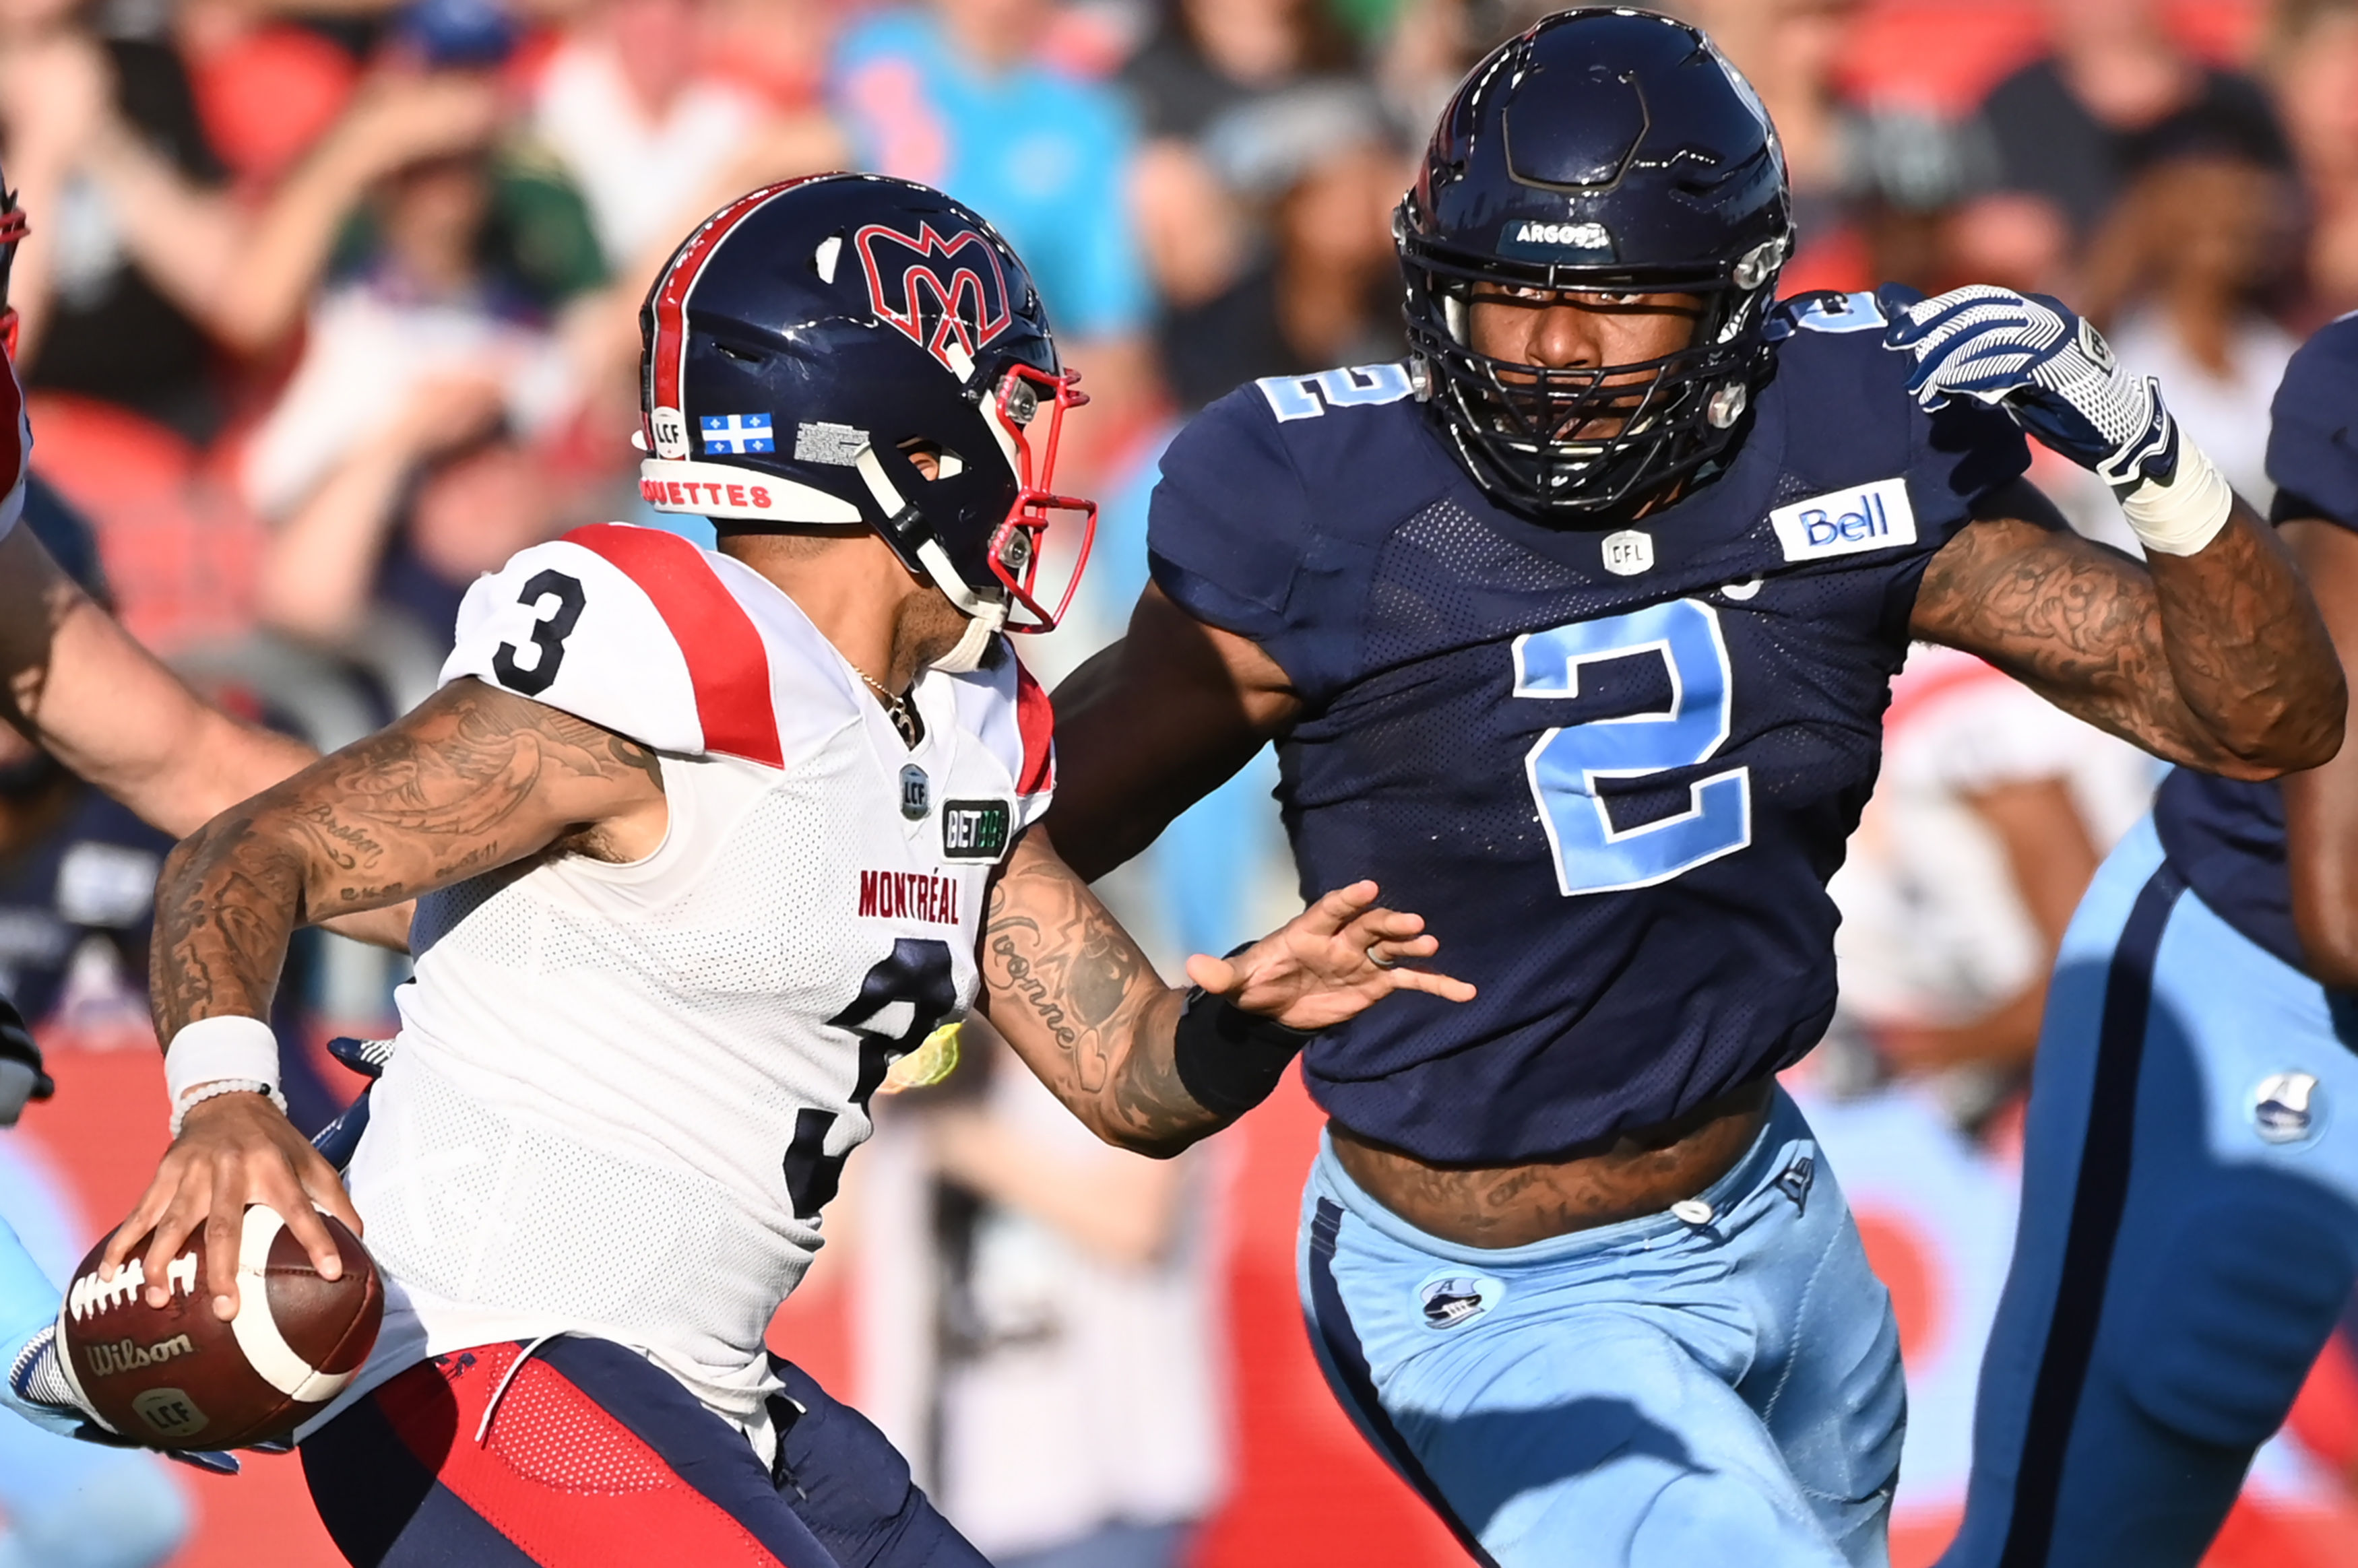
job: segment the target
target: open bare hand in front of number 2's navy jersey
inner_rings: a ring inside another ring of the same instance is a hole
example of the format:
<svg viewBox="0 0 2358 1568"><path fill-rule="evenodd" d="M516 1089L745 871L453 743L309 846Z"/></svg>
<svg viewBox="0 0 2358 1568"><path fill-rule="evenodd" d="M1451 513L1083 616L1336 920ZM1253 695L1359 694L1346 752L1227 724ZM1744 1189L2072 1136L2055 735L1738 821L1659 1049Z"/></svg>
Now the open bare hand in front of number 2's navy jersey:
<svg viewBox="0 0 2358 1568"><path fill-rule="evenodd" d="M1441 950L1424 929L1424 915L1377 908L1375 896L1375 882L1353 882L1243 953L1198 953L1186 962L1186 976L1245 1012L1299 1030L1356 1019L1394 990L1471 1002L1474 988L1464 981L1408 967L1405 960Z"/></svg>

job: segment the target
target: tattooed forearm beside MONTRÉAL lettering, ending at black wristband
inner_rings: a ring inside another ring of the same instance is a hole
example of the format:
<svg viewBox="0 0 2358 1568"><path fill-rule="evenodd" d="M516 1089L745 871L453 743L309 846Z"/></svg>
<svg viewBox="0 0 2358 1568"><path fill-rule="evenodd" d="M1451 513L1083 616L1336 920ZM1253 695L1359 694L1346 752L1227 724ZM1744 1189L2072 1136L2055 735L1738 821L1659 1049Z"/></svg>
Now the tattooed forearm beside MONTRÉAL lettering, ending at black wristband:
<svg viewBox="0 0 2358 1568"><path fill-rule="evenodd" d="M990 1021L1108 1144L1177 1153L1224 1125L1172 1066L1181 993L1038 835L990 889L983 986Z"/></svg>

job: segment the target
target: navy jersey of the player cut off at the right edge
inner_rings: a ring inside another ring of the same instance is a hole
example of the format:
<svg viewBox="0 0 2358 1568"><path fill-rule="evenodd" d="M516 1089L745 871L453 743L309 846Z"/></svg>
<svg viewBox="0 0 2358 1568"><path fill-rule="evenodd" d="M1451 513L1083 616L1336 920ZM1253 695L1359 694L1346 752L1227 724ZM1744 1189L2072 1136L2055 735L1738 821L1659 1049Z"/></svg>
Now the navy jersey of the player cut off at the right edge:
<svg viewBox="0 0 2358 1568"><path fill-rule="evenodd" d="M2358 314L2318 330L2285 365L2268 410L2275 516L2358 528ZM2275 783L2176 769L2153 802L2162 851L2202 903L2301 967L2285 872L2285 792Z"/></svg>

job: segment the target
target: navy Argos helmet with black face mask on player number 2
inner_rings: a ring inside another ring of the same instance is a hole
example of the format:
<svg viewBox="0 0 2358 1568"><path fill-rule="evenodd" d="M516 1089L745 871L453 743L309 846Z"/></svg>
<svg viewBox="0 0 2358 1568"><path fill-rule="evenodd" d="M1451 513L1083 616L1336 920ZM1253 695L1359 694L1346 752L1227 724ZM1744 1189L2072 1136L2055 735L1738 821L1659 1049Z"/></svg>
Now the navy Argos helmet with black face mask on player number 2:
<svg viewBox="0 0 2358 1568"><path fill-rule="evenodd" d="M1394 217L1408 342L1467 472L1542 519L1658 495L1733 439L1768 377L1792 248L1785 158L1752 85L1695 28L1547 17L1460 83ZM1691 292L1686 349L1542 370L1476 354L1474 288ZM1582 424L1620 420L1618 434Z"/></svg>

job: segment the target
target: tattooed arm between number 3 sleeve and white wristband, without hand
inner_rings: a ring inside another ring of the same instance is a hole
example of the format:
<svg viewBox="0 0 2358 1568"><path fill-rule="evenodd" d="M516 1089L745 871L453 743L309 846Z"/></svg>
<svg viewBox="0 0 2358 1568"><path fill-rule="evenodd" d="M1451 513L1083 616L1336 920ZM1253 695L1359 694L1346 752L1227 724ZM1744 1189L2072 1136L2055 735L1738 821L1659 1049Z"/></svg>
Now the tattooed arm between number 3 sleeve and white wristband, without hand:
<svg viewBox="0 0 2358 1568"><path fill-rule="evenodd" d="M266 1016L299 924L375 910L564 844L663 797L660 759L597 724L455 681L394 726L205 823L156 894L156 1033Z"/></svg>

